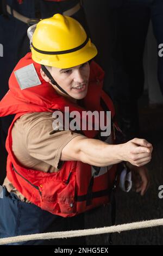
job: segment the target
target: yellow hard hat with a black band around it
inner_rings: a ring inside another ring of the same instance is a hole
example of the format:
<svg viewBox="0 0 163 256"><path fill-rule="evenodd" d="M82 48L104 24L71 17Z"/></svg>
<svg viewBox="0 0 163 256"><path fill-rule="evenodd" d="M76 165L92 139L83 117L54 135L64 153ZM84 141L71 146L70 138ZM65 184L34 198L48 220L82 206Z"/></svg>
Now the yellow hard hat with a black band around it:
<svg viewBox="0 0 163 256"><path fill-rule="evenodd" d="M96 46L72 17L55 14L37 23L31 44L36 63L71 68L96 56Z"/></svg>

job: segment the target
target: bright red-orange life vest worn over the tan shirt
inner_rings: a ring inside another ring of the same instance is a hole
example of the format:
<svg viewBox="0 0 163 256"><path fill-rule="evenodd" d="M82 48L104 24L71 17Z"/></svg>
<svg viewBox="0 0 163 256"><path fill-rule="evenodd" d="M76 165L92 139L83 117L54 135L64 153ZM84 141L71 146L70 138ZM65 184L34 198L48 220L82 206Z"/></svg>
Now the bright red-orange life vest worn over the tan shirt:
<svg viewBox="0 0 163 256"><path fill-rule="evenodd" d="M40 85L21 89L14 71L27 65L34 65ZM57 94L55 89L40 75L40 64L33 62L27 53L16 65L9 79L9 91L0 102L0 116L16 114L8 131L6 148L8 151L7 177L14 187L30 202L62 217L72 217L102 204L109 203L110 193L116 177L116 165L93 167L80 161L65 161L55 173L28 169L22 166L12 152L11 130L21 115L32 112L64 112L65 106L71 111L111 111L114 120L114 106L109 96L102 90L103 70L95 62L90 64L90 78L84 108ZM112 126L116 126L112 122ZM99 138L99 131L86 130L88 138ZM110 135L114 141L113 132ZM97 156L98 157L98 156Z"/></svg>

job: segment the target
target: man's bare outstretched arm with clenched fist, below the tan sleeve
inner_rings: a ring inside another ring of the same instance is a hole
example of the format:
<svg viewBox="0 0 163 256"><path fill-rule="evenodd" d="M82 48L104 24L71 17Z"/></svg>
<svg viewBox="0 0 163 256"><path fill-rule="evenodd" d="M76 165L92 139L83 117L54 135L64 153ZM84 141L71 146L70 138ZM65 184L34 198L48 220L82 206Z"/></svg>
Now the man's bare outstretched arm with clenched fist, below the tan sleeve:
<svg viewBox="0 0 163 256"><path fill-rule="evenodd" d="M139 167L151 161L152 150L152 144L146 139L134 138L127 143L112 145L81 135L62 149L60 160L82 161L100 167L128 161Z"/></svg>

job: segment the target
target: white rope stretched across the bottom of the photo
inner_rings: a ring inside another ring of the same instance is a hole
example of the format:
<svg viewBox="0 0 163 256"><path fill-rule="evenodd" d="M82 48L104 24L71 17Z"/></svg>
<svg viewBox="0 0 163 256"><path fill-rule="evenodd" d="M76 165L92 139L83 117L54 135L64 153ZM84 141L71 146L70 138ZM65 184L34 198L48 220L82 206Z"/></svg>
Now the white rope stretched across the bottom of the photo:
<svg viewBox="0 0 163 256"><path fill-rule="evenodd" d="M163 225L163 218L160 218L158 220L126 223L126 224L114 225L111 227L103 227L103 228L71 230L71 231L6 237L6 238L0 239L0 245L5 245L7 243L14 243L14 242L29 241L29 240L58 239L58 238L68 238L68 237L87 236L87 235L99 235L99 234L115 233L115 232L120 233L121 231L140 229L140 228L158 227L160 225Z"/></svg>

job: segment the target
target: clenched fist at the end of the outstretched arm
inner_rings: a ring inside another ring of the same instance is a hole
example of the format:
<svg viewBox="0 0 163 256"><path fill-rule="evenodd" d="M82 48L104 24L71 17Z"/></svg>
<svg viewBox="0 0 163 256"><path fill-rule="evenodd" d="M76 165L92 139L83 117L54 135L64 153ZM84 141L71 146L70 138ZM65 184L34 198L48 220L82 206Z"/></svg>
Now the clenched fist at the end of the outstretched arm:
<svg viewBox="0 0 163 256"><path fill-rule="evenodd" d="M121 159L130 162L134 166L144 166L151 161L152 150L152 144L146 139L134 138L121 144Z"/></svg>

